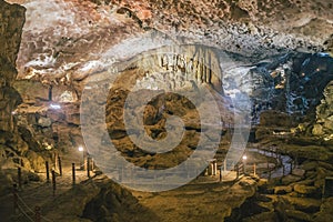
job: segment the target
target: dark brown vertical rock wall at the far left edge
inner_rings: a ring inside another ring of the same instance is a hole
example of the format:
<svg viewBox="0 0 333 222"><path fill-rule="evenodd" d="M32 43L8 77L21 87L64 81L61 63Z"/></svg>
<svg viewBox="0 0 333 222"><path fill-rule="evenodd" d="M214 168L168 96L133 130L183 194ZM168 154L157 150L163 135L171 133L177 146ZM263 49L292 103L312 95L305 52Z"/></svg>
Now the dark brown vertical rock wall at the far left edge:
<svg viewBox="0 0 333 222"><path fill-rule="evenodd" d="M26 9L0 0L0 144L16 140L13 112L21 97L12 87L18 74L16 60L21 42Z"/></svg>

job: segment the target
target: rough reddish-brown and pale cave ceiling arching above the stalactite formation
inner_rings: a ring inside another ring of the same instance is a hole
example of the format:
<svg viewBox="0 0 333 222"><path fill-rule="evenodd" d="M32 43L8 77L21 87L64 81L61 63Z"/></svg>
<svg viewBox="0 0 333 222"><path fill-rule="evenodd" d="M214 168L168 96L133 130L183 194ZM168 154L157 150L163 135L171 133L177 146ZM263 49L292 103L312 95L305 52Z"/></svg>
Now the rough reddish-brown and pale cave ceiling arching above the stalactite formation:
<svg viewBox="0 0 333 222"><path fill-rule="evenodd" d="M333 30L333 7L326 0L9 2L27 8L18 78L44 83L82 80L110 58L147 50L135 38L148 30L168 33L178 43L200 42L260 59L281 51L324 51ZM110 53L130 40L135 46Z"/></svg>

